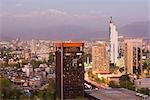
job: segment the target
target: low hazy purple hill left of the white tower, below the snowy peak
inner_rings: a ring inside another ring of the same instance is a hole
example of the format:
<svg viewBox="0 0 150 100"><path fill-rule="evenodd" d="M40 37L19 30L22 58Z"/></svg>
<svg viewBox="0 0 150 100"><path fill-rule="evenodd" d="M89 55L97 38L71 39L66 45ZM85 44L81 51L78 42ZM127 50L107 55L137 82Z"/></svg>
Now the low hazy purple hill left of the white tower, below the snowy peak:
<svg viewBox="0 0 150 100"><path fill-rule="evenodd" d="M79 25L60 25L44 27L39 29L23 28L17 31L2 35L4 40L14 39L48 39L48 40L94 40L108 36L108 32L85 28Z"/></svg>

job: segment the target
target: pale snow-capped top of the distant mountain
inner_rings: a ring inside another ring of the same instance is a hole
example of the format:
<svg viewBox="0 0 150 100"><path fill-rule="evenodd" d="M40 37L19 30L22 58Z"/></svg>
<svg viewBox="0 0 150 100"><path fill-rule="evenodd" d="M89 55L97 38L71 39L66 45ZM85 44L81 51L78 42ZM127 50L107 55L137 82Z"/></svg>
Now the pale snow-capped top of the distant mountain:
<svg viewBox="0 0 150 100"><path fill-rule="evenodd" d="M35 17L47 17L47 18L59 18L59 19L80 19L80 20L90 20L90 19L99 19L100 16L97 15L83 15L83 14L71 14L63 10L58 9L47 9L45 11L32 11L29 13L21 13L21 14L14 14L13 17L15 18L35 18Z"/></svg>

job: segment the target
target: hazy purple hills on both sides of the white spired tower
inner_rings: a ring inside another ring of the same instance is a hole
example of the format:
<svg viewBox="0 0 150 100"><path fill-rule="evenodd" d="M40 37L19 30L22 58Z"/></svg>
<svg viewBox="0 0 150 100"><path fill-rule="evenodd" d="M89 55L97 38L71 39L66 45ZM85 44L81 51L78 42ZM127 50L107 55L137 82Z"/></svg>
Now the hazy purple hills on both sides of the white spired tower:
<svg viewBox="0 0 150 100"><path fill-rule="evenodd" d="M59 25L39 28L20 27L19 29L5 29L1 34L2 39L10 40L19 37L20 39L48 39L48 40L97 40L108 39L108 27L104 29L91 28L90 25ZM19 31L19 32L18 32ZM119 34L127 37L150 38L150 21L133 22L118 28Z"/></svg>

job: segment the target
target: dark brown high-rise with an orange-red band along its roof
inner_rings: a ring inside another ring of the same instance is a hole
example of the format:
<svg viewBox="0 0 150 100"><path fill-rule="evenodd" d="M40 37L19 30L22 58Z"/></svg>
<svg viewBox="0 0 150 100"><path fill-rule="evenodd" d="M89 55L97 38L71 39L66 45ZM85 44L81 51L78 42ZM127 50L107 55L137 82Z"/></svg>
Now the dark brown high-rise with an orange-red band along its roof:
<svg viewBox="0 0 150 100"><path fill-rule="evenodd" d="M56 43L56 97L84 96L84 43Z"/></svg>

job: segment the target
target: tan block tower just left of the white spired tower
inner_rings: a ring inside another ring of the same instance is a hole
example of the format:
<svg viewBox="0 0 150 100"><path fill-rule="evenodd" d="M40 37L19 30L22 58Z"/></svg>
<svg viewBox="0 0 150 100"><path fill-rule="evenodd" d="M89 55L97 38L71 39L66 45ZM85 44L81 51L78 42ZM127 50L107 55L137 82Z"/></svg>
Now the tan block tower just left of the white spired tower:
<svg viewBox="0 0 150 100"><path fill-rule="evenodd" d="M96 73L109 73L109 57L104 42L92 46L92 70Z"/></svg>

